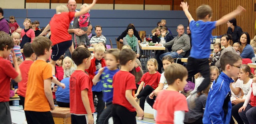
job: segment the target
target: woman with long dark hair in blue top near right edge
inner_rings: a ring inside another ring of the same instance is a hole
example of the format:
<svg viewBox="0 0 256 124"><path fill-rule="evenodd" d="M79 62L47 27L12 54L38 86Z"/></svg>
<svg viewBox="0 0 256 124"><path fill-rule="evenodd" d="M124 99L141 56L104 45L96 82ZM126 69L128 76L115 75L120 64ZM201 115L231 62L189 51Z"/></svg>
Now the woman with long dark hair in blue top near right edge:
<svg viewBox="0 0 256 124"><path fill-rule="evenodd" d="M242 46L242 49L240 51L240 53L241 53L240 56L243 59L244 58L252 59L253 57L255 57L254 50L253 50L252 46L250 45L250 41L251 41L251 39L250 39L249 33L243 32L239 39L239 43Z"/></svg>

